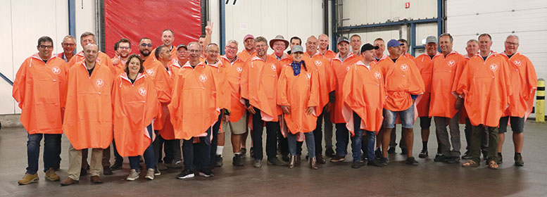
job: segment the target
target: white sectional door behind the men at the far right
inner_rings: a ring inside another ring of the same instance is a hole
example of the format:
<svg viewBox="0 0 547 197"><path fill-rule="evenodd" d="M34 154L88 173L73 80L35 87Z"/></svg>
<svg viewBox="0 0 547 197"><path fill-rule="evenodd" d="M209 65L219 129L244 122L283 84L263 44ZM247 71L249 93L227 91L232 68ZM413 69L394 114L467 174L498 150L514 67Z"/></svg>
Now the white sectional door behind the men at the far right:
<svg viewBox="0 0 547 197"><path fill-rule="evenodd" d="M518 51L534 63L539 78L547 79L547 1L458 0L447 1L446 8L447 31L454 37L456 51L466 53L467 40L477 39L486 32L492 36L491 49L502 52L505 38L517 34L520 37Z"/></svg>

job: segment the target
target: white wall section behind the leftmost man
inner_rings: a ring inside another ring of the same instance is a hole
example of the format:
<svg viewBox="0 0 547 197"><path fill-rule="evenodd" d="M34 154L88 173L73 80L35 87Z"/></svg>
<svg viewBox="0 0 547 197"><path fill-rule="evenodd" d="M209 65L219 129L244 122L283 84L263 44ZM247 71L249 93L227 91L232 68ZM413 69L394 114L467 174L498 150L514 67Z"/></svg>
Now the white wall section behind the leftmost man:
<svg viewBox="0 0 547 197"><path fill-rule="evenodd" d="M0 72L10 80L25 58L37 53L37 40L44 35L54 40L54 53L62 51L61 39L68 34L68 1L6 1L0 8L0 36L6 39L0 53ZM11 97L12 87L0 82L0 114L20 113Z"/></svg>

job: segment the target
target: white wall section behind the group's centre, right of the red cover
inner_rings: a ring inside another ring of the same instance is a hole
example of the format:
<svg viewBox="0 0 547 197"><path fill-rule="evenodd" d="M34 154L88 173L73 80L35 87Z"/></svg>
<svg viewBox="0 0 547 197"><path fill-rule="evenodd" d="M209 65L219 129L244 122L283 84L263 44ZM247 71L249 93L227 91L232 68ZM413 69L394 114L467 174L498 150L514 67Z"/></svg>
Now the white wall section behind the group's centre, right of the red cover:
<svg viewBox="0 0 547 197"><path fill-rule="evenodd" d="M306 42L310 35L317 37L323 31L322 1L240 0L235 6L232 2L226 5L226 40L237 40L239 51L244 49L241 42L246 34L263 36L268 40L277 34L287 40L298 36ZM212 4L218 2L213 1ZM268 53L272 50L269 49Z"/></svg>

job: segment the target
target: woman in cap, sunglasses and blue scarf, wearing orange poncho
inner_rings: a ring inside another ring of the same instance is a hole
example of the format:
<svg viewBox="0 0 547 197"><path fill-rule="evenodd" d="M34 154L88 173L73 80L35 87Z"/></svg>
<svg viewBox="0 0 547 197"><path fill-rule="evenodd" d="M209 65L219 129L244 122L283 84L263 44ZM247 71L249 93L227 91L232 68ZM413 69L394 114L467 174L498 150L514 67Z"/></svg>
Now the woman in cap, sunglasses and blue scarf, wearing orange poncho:
<svg viewBox="0 0 547 197"><path fill-rule="evenodd" d="M277 86L277 105L281 106L284 121L289 128L289 168L296 164L296 134L303 133L306 137L306 146L310 157L310 167L317 169L315 158L315 138L313 129L317 121L319 108L319 82L317 72L306 68L302 61L302 46L296 45L292 49L293 62L283 69L279 75ZM289 68L289 66L291 68Z"/></svg>

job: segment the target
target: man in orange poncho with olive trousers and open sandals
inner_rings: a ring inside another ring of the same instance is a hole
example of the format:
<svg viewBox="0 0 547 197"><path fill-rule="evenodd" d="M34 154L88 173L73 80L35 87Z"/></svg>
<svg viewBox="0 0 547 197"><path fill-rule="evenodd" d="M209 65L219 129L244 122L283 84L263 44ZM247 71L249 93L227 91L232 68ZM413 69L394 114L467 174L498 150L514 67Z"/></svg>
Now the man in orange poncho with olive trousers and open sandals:
<svg viewBox="0 0 547 197"><path fill-rule="evenodd" d="M480 165L481 133L489 132L488 165L498 169L498 126L500 118L510 105L513 94L510 84L509 65L505 56L490 50L489 34L479 35L479 56L474 56L465 65L455 94L464 98L465 110L472 125L471 160L463 167Z"/></svg>

